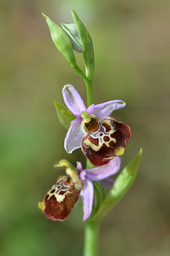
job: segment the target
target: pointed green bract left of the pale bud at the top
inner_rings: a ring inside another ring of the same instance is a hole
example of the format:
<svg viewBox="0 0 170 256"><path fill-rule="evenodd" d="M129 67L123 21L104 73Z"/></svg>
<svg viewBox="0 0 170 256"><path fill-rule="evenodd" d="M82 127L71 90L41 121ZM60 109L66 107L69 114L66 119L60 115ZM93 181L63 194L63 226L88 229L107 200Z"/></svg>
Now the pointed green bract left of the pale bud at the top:
<svg viewBox="0 0 170 256"><path fill-rule="evenodd" d="M55 46L64 55L66 60L70 62L72 67L76 66L73 47L69 36L67 36L64 30L56 25L52 20L50 20L44 13L43 16L47 21Z"/></svg>

